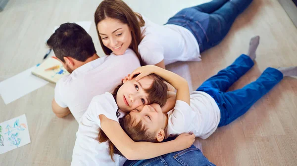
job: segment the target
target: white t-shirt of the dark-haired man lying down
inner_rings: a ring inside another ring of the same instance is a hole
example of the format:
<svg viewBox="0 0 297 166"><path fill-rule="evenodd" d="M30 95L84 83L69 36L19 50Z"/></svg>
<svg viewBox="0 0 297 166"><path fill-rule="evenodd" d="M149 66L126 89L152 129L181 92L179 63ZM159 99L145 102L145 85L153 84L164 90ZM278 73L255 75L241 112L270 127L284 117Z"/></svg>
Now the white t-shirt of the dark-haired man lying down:
<svg viewBox="0 0 297 166"><path fill-rule="evenodd" d="M131 49L123 55L100 57L61 78L54 89L54 100L60 107L68 107L78 122L94 96L112 92L138 67L139 60Z"/></svg>

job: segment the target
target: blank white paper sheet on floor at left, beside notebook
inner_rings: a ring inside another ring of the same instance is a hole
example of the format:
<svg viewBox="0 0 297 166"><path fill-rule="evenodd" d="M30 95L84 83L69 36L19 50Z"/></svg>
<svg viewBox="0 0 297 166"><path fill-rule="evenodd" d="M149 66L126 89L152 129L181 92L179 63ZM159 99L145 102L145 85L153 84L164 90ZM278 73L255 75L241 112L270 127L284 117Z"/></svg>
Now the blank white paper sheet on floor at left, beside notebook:
<svg viewBox="0 0 297 166"><path fill-rule="evenodd" d="M49 83L31 74L36 66L0 82L0 95L8 104Z"/></svg>

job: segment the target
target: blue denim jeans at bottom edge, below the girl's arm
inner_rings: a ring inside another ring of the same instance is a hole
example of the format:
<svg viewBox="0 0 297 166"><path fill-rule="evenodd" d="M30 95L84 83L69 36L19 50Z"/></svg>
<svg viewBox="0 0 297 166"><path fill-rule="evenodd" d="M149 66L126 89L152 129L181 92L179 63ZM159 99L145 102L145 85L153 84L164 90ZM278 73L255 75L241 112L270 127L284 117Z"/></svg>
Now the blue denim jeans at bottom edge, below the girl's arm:
<svg viewBox="0 0 297 166"><path fill-rule="evenodd" d="M124 166L215 166L194 145L153 159L126 161Z"/></svg>

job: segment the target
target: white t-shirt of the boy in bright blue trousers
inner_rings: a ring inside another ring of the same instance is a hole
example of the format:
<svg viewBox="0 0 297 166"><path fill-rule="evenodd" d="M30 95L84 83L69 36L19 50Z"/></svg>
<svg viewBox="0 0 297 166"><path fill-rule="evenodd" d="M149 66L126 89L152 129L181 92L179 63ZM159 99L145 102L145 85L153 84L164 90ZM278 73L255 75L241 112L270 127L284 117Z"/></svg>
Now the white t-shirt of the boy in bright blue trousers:
<svg viewBox="0 0 297 166"><path fill-rule="evenodd" d="M168 112L166 138L184 132L193 132L196 137L208 138L218 127L220 109L207 93L194 91L190 95L190 105L177 100L173 111Z"/></svg>

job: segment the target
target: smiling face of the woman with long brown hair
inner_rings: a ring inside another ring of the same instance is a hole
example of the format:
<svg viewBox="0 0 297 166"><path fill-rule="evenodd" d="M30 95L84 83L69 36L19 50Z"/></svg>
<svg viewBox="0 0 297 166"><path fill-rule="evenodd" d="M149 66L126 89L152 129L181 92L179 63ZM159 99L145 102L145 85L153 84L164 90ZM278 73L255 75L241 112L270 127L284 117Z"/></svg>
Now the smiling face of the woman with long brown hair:
<svg viewBox="0 0 297 166"><path fill-rule="evenodd" d="M131 30L127 24L106 17L97 25L102 43L115 55L123 55L132 42Z"/></svg>

